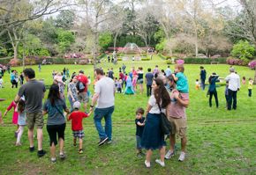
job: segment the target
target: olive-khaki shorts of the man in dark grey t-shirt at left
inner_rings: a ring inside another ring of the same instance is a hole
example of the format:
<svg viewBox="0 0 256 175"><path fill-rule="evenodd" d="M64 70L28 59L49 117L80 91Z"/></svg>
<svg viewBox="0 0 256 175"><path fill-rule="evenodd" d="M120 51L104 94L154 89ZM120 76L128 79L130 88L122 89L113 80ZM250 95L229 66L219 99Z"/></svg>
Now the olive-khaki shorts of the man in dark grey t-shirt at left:
<svg viewBox="0 0 256 175"><path fill-rule="evenodd" d="M38 113L26 113L26 126L29 129L34 128L43 128L43 116L41 112Z"/></svg>

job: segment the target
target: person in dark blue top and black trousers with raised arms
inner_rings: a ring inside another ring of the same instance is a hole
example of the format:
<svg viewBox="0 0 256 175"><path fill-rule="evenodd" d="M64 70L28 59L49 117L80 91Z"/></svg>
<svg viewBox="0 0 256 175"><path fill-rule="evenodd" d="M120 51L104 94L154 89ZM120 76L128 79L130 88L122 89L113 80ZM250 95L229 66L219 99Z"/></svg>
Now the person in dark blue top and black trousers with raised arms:
<svg viewBox="0 0 256 175"><path fill-rule="evenodd" d="M210 77L209 77L209 90L208 93L210 95L209 98L209 106L212 107L212 98L213 95L215 96L215 103L216 103L216 107L219 107L219 101L218 101L218 94L216 91L216 81L218 79L218 75L216 75L216 73L213 73Z"/></svg>

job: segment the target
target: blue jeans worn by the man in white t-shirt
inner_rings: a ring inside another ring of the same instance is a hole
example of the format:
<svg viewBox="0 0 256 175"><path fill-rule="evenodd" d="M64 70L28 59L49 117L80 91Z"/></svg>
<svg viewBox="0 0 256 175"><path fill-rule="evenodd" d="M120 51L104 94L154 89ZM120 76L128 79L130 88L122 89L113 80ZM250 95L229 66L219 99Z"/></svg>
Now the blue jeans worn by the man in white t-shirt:
<svg viewBox="0 0 256 175"><path fill-rule="evenodd" d="M95 108L94 110L94 125L98 131L100 139L109 137L112 139L112 119L111 115L114 112L114 106L107 108ZM102 128L102 118L105 120L105 129Z"/></svg>

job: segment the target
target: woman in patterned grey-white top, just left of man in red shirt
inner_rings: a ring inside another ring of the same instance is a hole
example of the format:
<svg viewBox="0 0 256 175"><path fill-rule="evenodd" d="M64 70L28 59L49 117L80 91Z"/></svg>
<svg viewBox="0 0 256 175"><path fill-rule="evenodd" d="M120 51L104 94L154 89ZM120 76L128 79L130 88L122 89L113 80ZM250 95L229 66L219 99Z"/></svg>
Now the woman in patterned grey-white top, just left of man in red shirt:
<svg viewBox="0 0 256 175"><path fill-rule="evenodd" d="M73 110L74 102L79 100L78 91L77 91L77 88L76 88L76 83L77 82L78 82L77 77L72 77L71 82L68 85L68 98L69 98L70 104L72 106L72 110Z"/></svg>

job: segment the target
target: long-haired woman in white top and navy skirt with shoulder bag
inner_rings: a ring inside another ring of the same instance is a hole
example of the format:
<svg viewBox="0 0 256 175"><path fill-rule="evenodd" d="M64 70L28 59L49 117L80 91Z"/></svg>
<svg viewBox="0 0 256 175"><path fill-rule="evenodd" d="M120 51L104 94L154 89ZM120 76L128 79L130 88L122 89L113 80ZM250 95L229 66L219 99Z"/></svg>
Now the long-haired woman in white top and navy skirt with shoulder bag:
<svg viewBox="0 0 256 175"><path fill-rule="evenodd" d="M165 112L165 108L169 106L169 93L166 91L162 80L156 78L153 81L152 88L154 94L149 98L146 111L146 123L142 135L141 145L147 149L147 157L145 165L150 167L150 158L154 149L160 150L161 159L156 159L155 162L161 166L164 164L165 145L164 135L160 126L160 116ZM161 107L161 110L160 110Z"/></svg>

